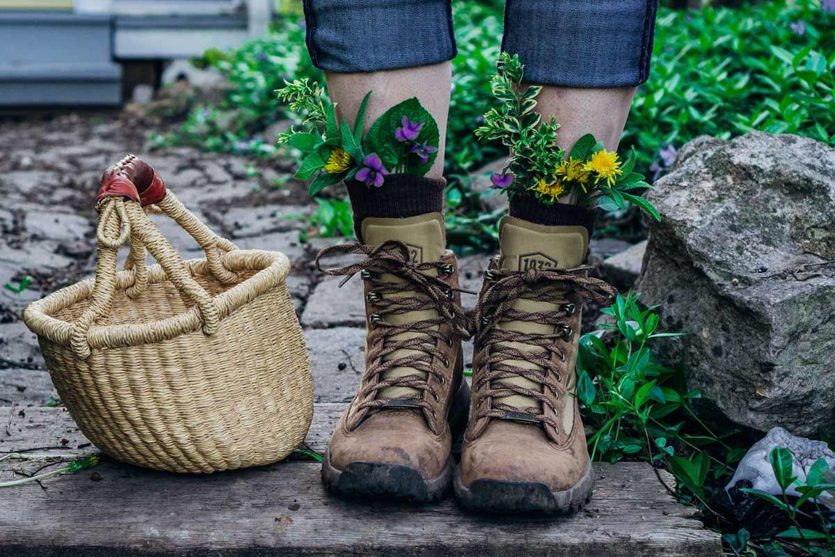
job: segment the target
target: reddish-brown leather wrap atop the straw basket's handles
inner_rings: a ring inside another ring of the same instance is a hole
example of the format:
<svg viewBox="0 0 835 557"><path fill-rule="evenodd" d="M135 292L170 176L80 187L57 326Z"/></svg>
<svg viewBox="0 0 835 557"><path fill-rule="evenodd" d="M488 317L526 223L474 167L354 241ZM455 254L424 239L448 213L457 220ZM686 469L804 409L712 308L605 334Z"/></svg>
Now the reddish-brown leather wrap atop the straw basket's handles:
<svg viewBox="0 0 835 557"><path fill-rule="evenodd" d="M165 197L165 183L148 163L129 154L104 171L96 205L106 197L127 197L151 205Z"/></svg>

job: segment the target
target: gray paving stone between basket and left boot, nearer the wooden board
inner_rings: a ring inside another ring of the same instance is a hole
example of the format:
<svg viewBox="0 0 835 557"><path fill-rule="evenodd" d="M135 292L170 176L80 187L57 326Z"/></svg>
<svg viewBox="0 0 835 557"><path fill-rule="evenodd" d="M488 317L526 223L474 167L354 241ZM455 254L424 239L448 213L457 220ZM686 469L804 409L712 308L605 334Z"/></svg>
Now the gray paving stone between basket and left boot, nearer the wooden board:
<svg viewBox="0 0 835 557"><path fill-rule="evenodd" d="M350 401L365 372L365 329L335 327L305 331L317 403Z"/></svg>

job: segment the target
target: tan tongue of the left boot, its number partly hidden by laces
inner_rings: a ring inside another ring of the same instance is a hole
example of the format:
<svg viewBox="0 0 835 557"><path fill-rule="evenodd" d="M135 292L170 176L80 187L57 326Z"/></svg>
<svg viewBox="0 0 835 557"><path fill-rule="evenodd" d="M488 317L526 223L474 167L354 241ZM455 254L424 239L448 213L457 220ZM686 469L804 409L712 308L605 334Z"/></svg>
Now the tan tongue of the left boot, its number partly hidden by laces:
<svg viewBox="0 0 835 557"><path fill-rule="evenodd" d="M367 245L376 246L382 244L384 241L397 240L406 244L409 250L409 258L413 264L425 263L428 261L438 261L446 252L447 239L446 231L443 225L443 215L440 213L428 213L426 215L417 215L408 217L407 219L383 219L369 217L362 220L362 240ZM432 271L430 271L432 272ZM383 281L388 282L403 282L397 276L384 274L381 276ZM385 294L385 297L392 297L391 294ZM423 292L418 291L403 291L397 293L395 297L415 296L426 298ZM394 306L392 306L394 307ZM398 315L387 315L386 321L394 325L402 325L403 323L422 321L423 319L432 319L438 316L438 311L421 310L408 311ZM436 330L438 327L435 327ZM388 341L407 340L409 338L417 337L419 333L402 332L399 335L388 337ZM384 358L385 361L396 360L398 358L407 357L412 354L419 354L417 350L410 350L408 348L401 348L395 350ZM383 378L390 377L404 377L407 375L414 375L419 373L424 378L426 373L419 372L412 367L392 367L382 374ZM386 387L378 392L379 398L395 398L403 395L420 395L421 392L412 387Z"/></svg>

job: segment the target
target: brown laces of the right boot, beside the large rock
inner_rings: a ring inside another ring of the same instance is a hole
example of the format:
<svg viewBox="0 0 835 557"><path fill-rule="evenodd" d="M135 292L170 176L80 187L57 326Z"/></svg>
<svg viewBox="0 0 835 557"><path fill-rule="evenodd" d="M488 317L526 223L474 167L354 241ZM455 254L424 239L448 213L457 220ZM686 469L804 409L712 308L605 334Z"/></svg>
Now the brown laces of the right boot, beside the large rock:
<svg viewBox="0 0 835 557"><path fill-rule="evenodd" d="M564 343L570 342L574 331L566 322L566 317L574 314L574 304L567 300L569 292L577 293L581 298L588 298L601 306L610 306L611 298L617 296L617 289L605 281L583 276L582 271L590 266L574 269L513 271L509 269L491 269L485 273L490 282L478 303L473 315L470 330L476 351L487 347L488 356L477 370L473 370L473 393L488 383L488 389L479 398L477 408L490 399L489 409L479 413L479 417L522 419L529 422L548 423L552 428L558 424L552 416L558 415L553 401L559 398L558 383L562 381L559 363L565 361ZM603 293L596 291L599 289ZM557 310L520 311L512 307L519 299L542 301L556 304ZM551 334L522 333L498 328L502 322L537 322L554 326ZM521 342L541 350L519 350L504 343ZM551 357L551 354L558 357ZM520 367L509 361L531 362L537 367ZM483 371L484 370L484 371ZM482 372L483 371L483 372ZM510 377L524 377L554 393L548 397L544 388L536 390L503 381ZM523 395L539 400L542 408L515 407L505 403L493 402L493 398ZM549 408L552 412L546 413Z"/></svg>

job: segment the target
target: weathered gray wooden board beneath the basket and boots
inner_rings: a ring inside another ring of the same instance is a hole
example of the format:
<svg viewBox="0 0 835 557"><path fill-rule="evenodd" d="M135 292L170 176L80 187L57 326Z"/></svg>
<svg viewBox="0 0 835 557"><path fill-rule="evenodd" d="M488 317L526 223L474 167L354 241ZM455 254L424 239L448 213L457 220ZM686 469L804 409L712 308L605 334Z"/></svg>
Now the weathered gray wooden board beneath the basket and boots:
<svg viewBox="0 0 835 557"><path fill-rule="evenodd" d="M324 450L342 408L316 405L311 448ZM26 408L7 435L10 410L0 407L0 453L94 451L58 408ZM10 479L9 469L0 463L0 480ZM719 535L676 504L648 465L595 464L595 482L591 503L574 515L488 516L464 513L451 499L334 497L312 462L180 475L104 458L43 487L0 490L0 557L721 555Z"/></svg>

